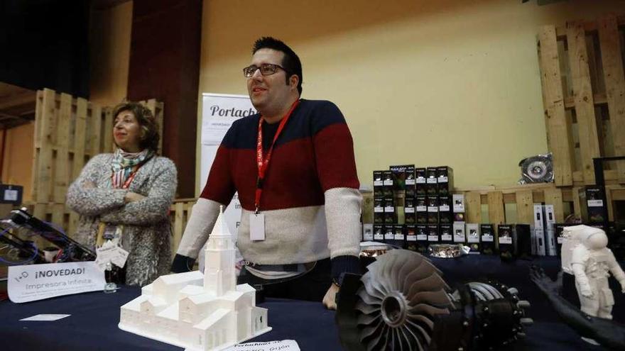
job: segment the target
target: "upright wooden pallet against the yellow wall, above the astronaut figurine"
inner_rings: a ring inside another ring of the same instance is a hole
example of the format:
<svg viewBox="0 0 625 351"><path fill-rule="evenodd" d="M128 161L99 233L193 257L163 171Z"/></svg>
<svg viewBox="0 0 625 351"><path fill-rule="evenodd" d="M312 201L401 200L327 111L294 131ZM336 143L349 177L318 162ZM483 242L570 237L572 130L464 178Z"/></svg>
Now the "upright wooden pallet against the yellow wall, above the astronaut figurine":
<svg viewBox="0 0 625 351"><path fill-rule="evenodd" d="M594 184L593 157L625 156L625 17L544 26L538 57L555 184ZM608 184L625 184L625 161L607 165Z"/></svg>

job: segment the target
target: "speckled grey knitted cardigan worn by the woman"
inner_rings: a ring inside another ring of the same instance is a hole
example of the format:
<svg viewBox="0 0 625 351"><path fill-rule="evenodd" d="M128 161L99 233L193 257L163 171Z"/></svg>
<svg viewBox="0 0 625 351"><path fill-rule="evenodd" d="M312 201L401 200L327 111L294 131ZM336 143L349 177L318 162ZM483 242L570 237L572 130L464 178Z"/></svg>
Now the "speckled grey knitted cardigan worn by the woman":
<svg viewBox="0 0 625 351"><path fill-rule="evenodd" d="M80 214L73 238L94 249L99 222L123 224L126 284L146 285L170 269L169 208L177 186L176 168L166 157L152 157L135 174L129 189L112 189L113 154L92 157L67 189L67 206ZM96 187L89 187L94 184ZM146 196L124 204L127 191Z"/></svg>

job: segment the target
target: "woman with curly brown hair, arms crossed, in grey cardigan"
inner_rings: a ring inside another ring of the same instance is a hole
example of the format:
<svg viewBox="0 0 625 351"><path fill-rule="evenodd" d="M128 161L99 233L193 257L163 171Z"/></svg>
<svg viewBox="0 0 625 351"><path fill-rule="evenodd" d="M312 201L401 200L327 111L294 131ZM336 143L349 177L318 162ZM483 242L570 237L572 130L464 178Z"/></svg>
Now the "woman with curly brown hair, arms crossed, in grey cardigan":
<svg viewBox="0 0 625 351"><path fill-rule="evenodd" d="M92 157L67 190L67 206L80 214L75 239L94 248L115 233L124 250L126 284L146 285L170 264L168 211L176 168L156 155L158 128L151 111L134 102L113 111L114 153Z"/></svg>

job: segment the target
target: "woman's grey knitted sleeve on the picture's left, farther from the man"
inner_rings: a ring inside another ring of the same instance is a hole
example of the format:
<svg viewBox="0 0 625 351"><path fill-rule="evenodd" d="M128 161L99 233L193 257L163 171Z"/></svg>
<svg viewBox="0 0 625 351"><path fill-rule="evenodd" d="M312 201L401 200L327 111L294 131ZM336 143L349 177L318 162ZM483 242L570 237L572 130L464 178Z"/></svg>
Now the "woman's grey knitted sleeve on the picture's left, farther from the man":
<svg viewBox="0 0 625 351"><path fill-rule="evenodd" d="M124 189L103 189L97 187L99 174L110 155L92 157L77 179L67 188L66 204L83 216L99 216L124 206Z"/></svg>

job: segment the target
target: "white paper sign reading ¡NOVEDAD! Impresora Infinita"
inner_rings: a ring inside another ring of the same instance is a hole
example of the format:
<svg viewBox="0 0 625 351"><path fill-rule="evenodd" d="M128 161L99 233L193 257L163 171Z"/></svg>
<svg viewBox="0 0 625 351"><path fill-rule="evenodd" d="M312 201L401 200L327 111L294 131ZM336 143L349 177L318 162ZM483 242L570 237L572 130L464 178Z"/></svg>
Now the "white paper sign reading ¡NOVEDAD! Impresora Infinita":
<svg viewBox="0 0 625 351"><path fill-rule="evenodd" d="M15 303L102 291L106 280L95 262L67 262L9 266L7 288Z"/></svg>

